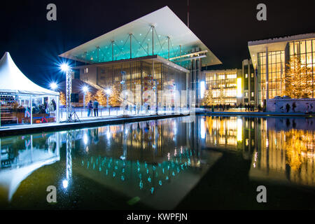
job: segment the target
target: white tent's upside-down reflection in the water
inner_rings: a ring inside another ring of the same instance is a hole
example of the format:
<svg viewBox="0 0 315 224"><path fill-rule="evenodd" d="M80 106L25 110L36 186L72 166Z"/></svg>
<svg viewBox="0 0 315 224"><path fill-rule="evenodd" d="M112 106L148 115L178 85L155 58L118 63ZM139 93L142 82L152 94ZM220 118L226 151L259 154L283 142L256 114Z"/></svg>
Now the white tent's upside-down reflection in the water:
<svg viewBox="0 0 315 224"><path fill-rule="evenodd" d="M0 198L9 202L36 169L59 161L59 134L0 138Z"/></svg>

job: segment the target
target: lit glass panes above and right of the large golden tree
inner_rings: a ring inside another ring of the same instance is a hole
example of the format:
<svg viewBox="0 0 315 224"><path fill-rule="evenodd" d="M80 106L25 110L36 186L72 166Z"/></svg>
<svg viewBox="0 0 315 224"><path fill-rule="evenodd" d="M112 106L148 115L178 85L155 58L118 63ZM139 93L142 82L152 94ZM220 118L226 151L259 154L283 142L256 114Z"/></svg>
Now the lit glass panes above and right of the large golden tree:
<svg viewBox="0 0 315 224"><path fill-rule="evenodd" d="M315 72L315 39L292 41L289 43L290 58L300 58L302 66L307 66L312 73L313 91L309 97L314 98L314 72Z"/></svg>

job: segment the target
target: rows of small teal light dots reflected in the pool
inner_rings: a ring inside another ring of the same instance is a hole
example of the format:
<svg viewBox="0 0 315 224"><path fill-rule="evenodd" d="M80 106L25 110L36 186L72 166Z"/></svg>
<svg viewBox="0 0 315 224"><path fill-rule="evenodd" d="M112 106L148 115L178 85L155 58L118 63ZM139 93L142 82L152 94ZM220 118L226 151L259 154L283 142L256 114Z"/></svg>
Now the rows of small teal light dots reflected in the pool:
<svg viewBox="0 0 315 224"><path fill-rule="evenodd" d="M168 156L170 156L169 153ZM191 156L192 152L188 150L188 148L181 147L181 151L176 149L176 158L169 158L169 161L164 161L156 165L148 164L146 161L139 162L139 160L137 160L137 162L132 162L115 158L91 156L85 161L82 160L81 166L90 169L90 171L93 172L102 172L104 176L107 176L106 178L120 181L120 183L130 183L130 179L126 176L126 173L128 174L132 172L130 169L133 169L136 171L135 174L137 179L139 178L137 188L140 188L140 190L148 190L153 193L155 190L159 190L159 188L162 187L162 180L168 181L172 178L176 178L176 176L181 174L185 169L188 169L188 167L190 167ZM133 166L134 163L136 166ZM193 167L200 166L200 161L196 161L196 163L197 165L193 165ZM92 169L94 166L96 169ZM104 169L101 169L101 167L104 167ZM109 167L109 169L106 169L105 167ZM155 179L157 181L155 181Z"/></svg>

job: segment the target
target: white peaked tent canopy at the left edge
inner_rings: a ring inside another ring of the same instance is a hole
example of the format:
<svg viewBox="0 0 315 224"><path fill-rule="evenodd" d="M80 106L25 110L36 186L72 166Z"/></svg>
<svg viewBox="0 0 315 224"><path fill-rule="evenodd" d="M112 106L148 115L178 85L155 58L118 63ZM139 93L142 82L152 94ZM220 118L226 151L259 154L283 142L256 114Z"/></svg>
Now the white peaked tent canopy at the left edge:
<svg viewBox="0 0 315 224"><path fill-rule="evenodd" d="M0 61L0 80L1 93L59 95L59 92L47 90L29 80L15 65L9 52Z"/></svg>

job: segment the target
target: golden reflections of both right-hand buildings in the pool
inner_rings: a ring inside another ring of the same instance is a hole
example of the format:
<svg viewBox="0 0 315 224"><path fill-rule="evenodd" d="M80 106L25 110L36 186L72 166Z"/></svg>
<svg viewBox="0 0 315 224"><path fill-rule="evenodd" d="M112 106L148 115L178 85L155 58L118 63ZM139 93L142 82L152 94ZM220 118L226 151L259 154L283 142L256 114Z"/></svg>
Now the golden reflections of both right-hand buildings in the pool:
<svg viewBox="0 0 315 224"><path fill-rule="evenodd" d="M206 148L241 151L252 179L315 185L314 118L200 117Z"/></svg>

